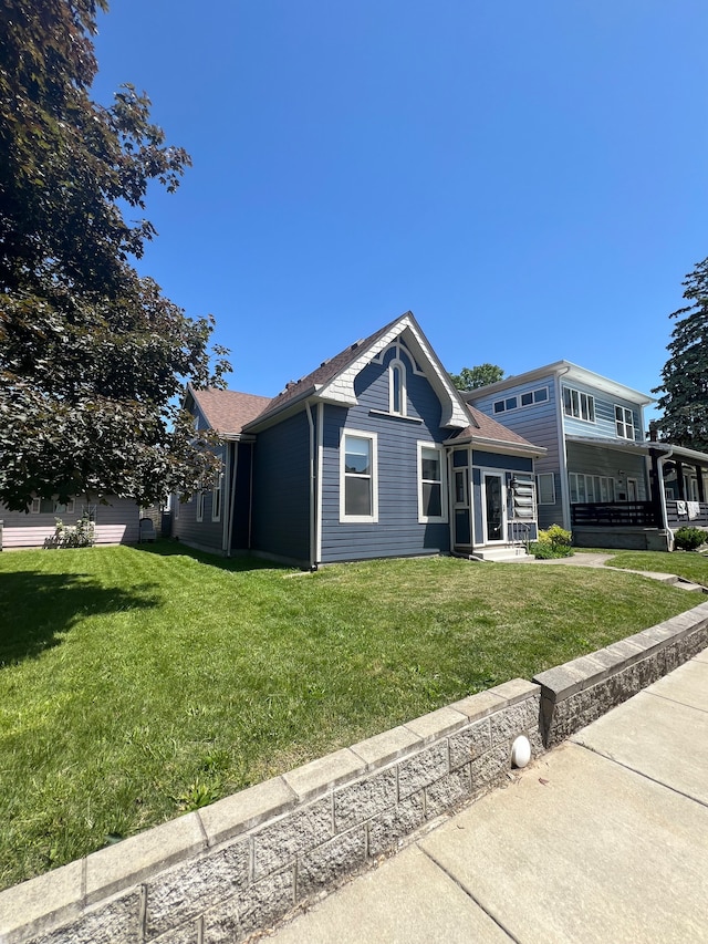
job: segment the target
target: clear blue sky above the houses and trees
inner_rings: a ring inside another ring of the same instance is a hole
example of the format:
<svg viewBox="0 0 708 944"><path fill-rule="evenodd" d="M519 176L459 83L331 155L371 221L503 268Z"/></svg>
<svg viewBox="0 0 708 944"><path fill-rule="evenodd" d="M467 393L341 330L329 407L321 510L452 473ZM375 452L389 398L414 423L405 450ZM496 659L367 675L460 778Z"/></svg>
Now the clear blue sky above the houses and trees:
<svg viewBox="0 0 708 944"><path fill-rule="evenodd" d="M138 268L235 390L410 309L445 366L648 393L708 256L705 0L114 0L94 97L190 153Z"/></svg>

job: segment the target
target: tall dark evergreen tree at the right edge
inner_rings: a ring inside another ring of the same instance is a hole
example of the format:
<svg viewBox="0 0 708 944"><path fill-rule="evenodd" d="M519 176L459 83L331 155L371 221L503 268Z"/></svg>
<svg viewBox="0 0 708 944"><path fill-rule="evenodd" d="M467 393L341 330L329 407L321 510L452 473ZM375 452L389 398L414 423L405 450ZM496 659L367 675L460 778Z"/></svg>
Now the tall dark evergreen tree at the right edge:
<svg viewBox="0 0 708 944"><path fill-rule="evenodd" d="M662 371L657 421L662 438L708 452L708 259L699 262L684 282L689 302L673 312L676 326L667 345L669 359Z"/></svg>

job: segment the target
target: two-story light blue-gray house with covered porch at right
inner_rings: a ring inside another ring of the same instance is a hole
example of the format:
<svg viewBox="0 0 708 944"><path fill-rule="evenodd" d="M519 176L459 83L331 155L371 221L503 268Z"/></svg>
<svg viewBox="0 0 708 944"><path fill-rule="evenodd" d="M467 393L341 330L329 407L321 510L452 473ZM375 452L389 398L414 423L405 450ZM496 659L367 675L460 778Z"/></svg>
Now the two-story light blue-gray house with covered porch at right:
<svg viewBox="0 0 708 944"><path fill-rule="evenodd" d="M556 361L465 398L545 446L535 464L541 528L562 525L580 547L666 550L671 529L688 523L689 497L702 504L691 504L691 520L708 525L708 456L645 439L643 412L652 397Z"/></svg>

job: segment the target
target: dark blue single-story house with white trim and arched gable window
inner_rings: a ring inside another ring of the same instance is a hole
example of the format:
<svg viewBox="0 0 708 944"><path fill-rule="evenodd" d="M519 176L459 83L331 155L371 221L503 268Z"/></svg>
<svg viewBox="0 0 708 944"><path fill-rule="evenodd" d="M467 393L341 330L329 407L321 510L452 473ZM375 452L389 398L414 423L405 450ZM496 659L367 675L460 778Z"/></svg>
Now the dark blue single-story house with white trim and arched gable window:
<svg viewBox="0 0 708 944"><path fill-rule="evenodd" d="M544 450L467 407L410 312L273 400L189 387L186 405L223 468L175 502L173 533L196 547L314 568L537 536Z"/></svg>

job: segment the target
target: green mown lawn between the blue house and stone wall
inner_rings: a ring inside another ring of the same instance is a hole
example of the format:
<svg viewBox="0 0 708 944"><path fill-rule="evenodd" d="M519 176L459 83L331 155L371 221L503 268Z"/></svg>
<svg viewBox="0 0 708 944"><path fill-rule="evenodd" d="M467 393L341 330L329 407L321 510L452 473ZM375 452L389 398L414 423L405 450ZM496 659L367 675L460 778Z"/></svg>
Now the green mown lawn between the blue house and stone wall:
<svg viewBox="0 0 708 944"><path fill-rule="evenodd" d="M2 553L0 886L697 602L452 558Z"/></svg>

